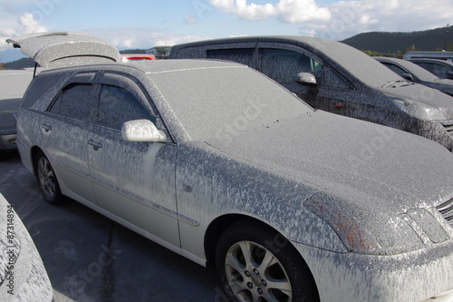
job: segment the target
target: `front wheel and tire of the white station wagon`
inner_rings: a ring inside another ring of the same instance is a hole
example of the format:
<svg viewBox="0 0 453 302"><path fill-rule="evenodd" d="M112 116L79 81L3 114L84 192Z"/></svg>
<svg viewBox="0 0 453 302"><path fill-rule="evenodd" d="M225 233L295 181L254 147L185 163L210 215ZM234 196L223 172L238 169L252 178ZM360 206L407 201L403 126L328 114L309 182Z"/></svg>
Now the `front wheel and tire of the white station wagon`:
<svg viewBox="0 0 453 302"><path fill-rule="evenodd" d="M270 227L240 221L217 242L216 268L230 301L319 301L310 269Z"/></svg>

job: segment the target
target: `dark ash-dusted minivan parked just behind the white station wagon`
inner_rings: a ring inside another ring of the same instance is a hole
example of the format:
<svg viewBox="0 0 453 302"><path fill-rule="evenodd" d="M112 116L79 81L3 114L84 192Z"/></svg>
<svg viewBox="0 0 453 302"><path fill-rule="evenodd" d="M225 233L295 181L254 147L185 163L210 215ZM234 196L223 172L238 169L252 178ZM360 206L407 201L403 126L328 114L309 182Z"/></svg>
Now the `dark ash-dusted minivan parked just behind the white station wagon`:
<svg viewBox="0 0 453 302"><path fill-rule="evenodd" d="M412 132L453 150L453 102L408 82L361 51L303 36L236 37L179 44L170 58L245 63L315 109Z"/></svg>

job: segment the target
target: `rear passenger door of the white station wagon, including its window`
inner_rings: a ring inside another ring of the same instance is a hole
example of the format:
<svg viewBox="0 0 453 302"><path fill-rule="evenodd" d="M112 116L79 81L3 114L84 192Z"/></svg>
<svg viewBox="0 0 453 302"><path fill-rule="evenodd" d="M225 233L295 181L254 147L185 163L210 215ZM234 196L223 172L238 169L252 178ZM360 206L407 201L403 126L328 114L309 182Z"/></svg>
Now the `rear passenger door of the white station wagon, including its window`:
<svg viewBox="0 0 453 302"><path fill-rule="evenodd" d="M89 202L95 202L87 161L88 132L99 94L94 76L95 73L74 76L39 122L44 152L53 162L64 194Z"/></svg>

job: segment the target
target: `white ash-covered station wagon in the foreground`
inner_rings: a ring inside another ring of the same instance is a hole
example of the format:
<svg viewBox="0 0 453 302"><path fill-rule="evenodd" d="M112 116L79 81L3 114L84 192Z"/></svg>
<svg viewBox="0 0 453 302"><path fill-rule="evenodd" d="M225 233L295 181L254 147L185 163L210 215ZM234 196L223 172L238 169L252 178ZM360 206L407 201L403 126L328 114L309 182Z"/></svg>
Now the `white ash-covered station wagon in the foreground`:
<svg viewBox="0 0 453 302"><path fill-rule="evenodd" d="M453 297L451 153L314 111L246 65L47 70L17 141L45 200L215 265L233 300Z"/></svg>

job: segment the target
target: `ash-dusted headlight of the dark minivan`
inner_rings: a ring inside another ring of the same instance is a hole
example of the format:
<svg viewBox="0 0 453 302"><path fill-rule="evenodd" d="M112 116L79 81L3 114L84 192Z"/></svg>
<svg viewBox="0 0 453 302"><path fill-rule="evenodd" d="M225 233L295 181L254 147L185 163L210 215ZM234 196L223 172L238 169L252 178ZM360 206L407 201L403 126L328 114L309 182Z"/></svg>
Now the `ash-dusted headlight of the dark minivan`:
<svg viewBox="0 0 453 302"><path fill-rule="evenodd" d="M430 106L424 102L417 102L402 98L392 98L392 101L397 105L400 110L408 113L410 116L420 120L427 121L443 121L448 120L439 108Z"/></svg>

